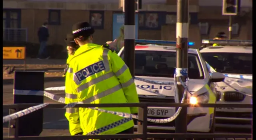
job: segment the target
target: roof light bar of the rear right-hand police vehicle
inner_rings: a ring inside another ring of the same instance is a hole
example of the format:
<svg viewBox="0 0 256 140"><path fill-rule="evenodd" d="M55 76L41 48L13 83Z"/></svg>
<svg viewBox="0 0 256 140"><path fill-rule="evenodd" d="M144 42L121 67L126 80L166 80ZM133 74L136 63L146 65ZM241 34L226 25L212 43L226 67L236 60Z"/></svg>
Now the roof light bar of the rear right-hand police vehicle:
<svg viewBox="0 0 256 140"><path fill-rule="evenodd" d="M252 45L252 40L215 40L215 39L202 39L204 44L225 44L225 45Z"/></svg>

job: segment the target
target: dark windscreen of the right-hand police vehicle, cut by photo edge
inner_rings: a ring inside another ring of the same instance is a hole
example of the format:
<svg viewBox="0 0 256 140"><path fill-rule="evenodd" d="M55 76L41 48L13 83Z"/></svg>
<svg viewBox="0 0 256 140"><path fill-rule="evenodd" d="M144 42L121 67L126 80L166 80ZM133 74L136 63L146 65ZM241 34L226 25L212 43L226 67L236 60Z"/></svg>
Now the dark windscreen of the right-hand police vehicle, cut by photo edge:
<svg viewBox="0 0 256 140"><path fill-rule="evenodd" d="M202 56L220 73L252 74L252 53L202 53Z"/></svg>

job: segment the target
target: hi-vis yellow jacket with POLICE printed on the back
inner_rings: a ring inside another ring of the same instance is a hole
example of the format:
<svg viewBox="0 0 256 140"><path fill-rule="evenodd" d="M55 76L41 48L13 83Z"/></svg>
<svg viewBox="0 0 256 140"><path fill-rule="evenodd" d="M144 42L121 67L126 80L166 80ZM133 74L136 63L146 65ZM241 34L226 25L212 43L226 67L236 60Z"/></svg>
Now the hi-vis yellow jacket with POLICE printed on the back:
<svg viewBox="0 0 256 140"><path fill-rule="evenodd" d="M65 103L139 103L134 80L124 61L100 45L80 46L68 59ZM101 108L137 113L137 107ZM71 135L116 134L134 126L129 118L89 108L67 108Z"/></svg>

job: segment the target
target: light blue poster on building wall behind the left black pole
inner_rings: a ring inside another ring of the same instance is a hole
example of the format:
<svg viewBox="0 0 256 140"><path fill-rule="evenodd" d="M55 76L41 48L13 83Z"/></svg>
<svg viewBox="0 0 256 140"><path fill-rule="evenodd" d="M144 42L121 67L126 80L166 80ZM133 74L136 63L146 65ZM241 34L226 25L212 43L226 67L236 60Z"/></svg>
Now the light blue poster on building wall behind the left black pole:
<svg viewBox="0 0 256 140"><path fill-rule="evenodd" d="M112 39L117 39L117 48L120 50L124 41L124 14L113 14L112 30ZM138 14L135 15L135 39L138 39Z"/></svg>

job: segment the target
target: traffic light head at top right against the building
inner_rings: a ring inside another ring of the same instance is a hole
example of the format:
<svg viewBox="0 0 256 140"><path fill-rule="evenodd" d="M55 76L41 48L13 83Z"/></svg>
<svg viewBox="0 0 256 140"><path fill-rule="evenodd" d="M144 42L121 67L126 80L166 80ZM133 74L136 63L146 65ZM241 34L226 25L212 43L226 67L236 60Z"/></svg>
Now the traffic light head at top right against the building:
<svg viewBox="0 0 256 140"><path fill-rule="evenodd" d="M223 0L222 15L236 16L240 12L240 0Z"/></svg>

